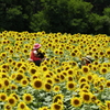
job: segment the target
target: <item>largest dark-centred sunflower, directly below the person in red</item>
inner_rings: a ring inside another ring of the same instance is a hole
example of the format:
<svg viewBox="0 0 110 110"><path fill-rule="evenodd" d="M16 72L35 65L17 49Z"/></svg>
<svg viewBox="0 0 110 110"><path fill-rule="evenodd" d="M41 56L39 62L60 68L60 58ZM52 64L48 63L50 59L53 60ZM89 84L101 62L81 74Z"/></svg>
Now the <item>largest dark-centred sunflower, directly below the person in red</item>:
<svg viewBox="0 0 110 110"><path fill-rule="evenodd" d="M34 88L34 89L36 89L36 90L40 90L40 89L42 89L43 88L43 80L42 79L34 79L33 81L32 81L32 87Z"/></svg>

